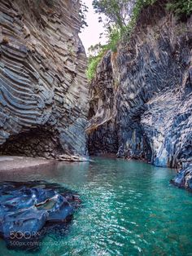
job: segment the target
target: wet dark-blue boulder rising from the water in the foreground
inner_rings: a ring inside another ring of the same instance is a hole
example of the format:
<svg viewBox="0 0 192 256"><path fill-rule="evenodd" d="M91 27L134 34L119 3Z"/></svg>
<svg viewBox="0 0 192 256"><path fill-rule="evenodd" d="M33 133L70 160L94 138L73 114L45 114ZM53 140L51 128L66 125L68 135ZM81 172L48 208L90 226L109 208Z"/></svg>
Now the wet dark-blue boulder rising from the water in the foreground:
<svg viewBox="0 0 192 256"><path fill-rule="evenodd" d="M47 234L66 234L80 204L57 183L0 183L0 236L8 248L37 249Z"/></svg>

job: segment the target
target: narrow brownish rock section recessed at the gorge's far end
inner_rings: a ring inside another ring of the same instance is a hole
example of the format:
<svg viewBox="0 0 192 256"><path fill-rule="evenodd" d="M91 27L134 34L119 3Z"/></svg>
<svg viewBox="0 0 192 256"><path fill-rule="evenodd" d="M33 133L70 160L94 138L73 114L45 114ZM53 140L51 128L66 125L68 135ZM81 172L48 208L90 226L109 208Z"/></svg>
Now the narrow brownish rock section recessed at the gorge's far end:
<svg viewBox="0 0 192 256"><path fill-rule="evenodd" d="M110 52L104 56L103 62L98 68L98 76L90 89L89 118L91 119L87 131L91 155L103 152L116 153L118 150L116 124L113 116L116 105Z"/></svg>

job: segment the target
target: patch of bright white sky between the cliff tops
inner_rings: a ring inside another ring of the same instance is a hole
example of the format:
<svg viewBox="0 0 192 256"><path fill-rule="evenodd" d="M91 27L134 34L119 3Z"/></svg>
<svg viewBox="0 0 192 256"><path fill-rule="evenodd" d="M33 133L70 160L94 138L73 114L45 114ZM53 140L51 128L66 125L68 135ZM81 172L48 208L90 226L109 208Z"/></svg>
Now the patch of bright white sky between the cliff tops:
<svg viewBox="0 0 192 256"><path fill-rule="evenodd" d="M103 24L98 22L98 14L94 13L94 8L92 7L92 0L84 0L85 5L89 7L86 13L86 23L88 27L85 27L83 31L79 34L83 45L85 46L85 51L88 53L88 48L91 45L95 45L98 42L105 43L106 38L99 38L100 33L104 32Z"/></svg>

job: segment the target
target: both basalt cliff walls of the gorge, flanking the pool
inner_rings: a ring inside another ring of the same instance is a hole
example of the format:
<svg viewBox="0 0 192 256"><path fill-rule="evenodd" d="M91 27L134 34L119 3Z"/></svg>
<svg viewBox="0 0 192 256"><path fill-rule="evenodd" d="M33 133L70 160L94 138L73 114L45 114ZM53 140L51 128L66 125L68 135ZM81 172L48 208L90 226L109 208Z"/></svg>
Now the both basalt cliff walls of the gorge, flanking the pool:
<svg viewBox="0 0 192 256"><path fill-rule="evenodd" d="M42 1L42 0L41 0ZM191 17L143 8L88 84L76 1L1 1L0 152L67 161L115 153L181 170L192 188Z"/></svg>

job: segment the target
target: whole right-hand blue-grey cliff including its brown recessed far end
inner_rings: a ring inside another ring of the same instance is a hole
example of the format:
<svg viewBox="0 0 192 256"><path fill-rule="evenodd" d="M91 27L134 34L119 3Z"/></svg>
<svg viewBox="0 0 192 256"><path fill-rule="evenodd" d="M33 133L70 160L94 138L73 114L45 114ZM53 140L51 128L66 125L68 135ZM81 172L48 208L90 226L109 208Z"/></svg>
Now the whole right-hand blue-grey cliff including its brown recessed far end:
<svg viewBox="0 0 192 256"><path fill-rule="evenodd" d="M177 20L157 3L129 42L107 52L91 83L89 152L112 148L118 157L187 169L191 179L191 29L192 18Z"/></svg>

